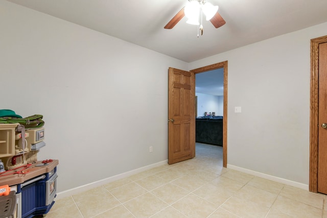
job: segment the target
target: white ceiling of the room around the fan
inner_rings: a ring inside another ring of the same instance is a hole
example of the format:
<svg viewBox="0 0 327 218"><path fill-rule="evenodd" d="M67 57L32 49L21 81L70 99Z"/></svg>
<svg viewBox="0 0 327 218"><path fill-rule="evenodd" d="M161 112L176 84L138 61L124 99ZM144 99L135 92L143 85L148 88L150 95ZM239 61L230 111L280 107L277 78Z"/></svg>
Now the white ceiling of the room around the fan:
<svg viewBox="0 0 327 218"><path fill-rule="evenodd" d="M186 18L168 21L187 0L8 0L162 54L192 62L327 21L326 0L207 0L226 24L204 21L204 34ZM82 37L82 36L81 36Z"/></svg>

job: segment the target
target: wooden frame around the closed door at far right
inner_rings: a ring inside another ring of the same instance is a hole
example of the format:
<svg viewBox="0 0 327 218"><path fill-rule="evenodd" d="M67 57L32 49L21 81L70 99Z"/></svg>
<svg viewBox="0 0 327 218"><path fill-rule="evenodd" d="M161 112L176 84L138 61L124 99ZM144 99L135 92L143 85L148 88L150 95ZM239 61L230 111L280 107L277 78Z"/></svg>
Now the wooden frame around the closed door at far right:
<svg viewBox="0 0 327 218"><path fill-rule="evenodd" d="M327 36L310 41L310 170L309 191L318 192L318 82L319 82L319 44L327 42Z"/></svg>

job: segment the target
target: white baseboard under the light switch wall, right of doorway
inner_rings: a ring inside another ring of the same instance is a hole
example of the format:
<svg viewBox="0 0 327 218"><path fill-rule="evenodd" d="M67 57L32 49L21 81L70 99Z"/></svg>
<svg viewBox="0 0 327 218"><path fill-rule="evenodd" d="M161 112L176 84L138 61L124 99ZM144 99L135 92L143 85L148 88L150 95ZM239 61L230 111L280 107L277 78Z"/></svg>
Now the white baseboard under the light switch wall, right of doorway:
<svg viewBox="0 0 327 218"><path fill-rule="evenodd" d="M242 167L231 165L231 164L227 164L227 168L235 169L236 171L240 171L242 173L250 174L250 175L253 175L253 176L256 176L256 177L260 177L260 178L263 178L263 179L268 179L268 180L271 180L271 181L274 181L274 182L282 183L282 184L285 184L285 185L290 185L290 186L293 186L293 187L296 187L296 188L301 188L301 189L309 191L309 185L307 185L307 184L303 184L303 183L295 182L295 181L292 181L292 180L283 179L283 178L280 178L280 177L275 177L275 176L271 176L271 175L268 175L268 174L252 171L251 169L246 169L246 168L242 168Z"/></svg>

